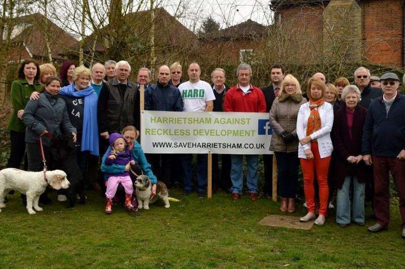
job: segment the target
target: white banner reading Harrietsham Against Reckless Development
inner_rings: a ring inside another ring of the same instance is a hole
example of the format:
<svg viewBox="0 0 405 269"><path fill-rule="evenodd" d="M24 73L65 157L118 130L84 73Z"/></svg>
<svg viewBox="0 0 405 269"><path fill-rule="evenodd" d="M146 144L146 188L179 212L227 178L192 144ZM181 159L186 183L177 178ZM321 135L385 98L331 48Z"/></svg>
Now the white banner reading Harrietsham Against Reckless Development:
<svg viewBox="0 0 405 269"><path fill-rule="evenodd" d="M270 154L268 113L141 112L146 153Z"/></svg>

